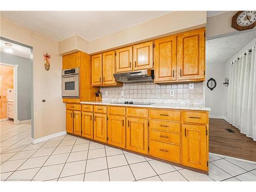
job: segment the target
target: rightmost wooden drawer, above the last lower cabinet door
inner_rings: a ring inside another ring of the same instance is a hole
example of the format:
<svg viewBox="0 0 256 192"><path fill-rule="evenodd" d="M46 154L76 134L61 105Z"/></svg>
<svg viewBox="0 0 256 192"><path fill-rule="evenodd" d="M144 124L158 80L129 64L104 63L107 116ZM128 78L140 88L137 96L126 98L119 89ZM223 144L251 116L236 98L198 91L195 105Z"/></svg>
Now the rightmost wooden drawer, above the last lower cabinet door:
<svg viewBox="0 0 256 192"><path fill-rule="evenodd" d="M207 113L183 111L183 122L207 124Z"/></svg>

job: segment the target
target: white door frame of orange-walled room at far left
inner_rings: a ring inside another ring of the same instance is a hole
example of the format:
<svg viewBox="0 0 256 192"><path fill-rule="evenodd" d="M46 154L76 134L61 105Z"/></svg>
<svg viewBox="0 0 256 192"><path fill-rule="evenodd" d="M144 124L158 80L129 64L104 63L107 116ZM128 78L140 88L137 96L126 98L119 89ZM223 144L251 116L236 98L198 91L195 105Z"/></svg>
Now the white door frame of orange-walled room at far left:
<svg viewBox="0 0 256 192"><path fill-rule="evenodd" d="M19 120L18 120L18 65L14 64L8 64L8 63L4 63L1 62L0 65L2 66L10 66L13 67L13 106L14 106L14 116L13 116L13 122L14 124L19 124ZM7 113L7 120L8 120L8 111Z"/></svg>

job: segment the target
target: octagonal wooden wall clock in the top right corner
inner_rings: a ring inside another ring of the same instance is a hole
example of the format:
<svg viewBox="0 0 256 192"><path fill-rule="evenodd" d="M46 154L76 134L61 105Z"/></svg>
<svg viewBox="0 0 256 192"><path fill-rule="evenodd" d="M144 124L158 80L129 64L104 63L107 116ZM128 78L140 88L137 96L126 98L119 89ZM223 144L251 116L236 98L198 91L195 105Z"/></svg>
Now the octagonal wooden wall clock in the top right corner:
<svg viewBox="0 0 256 192"><path fill-rule="evenodd" d="M256 26L256 11L238 11L232 17L231 27L239 31L252 29Z"/></svg>

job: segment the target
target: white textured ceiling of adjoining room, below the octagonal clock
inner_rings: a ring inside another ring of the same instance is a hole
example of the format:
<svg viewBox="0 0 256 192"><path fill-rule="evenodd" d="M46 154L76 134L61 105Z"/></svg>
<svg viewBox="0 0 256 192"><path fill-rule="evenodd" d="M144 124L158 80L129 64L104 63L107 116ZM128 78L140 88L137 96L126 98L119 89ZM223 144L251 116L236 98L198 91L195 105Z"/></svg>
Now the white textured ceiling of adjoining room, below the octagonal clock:
<svg viewBox="0 0 256 192"><path fill-rule="evenodd" d="M206 41L206 65L226 62L256 37L256 30Z"/></svg>

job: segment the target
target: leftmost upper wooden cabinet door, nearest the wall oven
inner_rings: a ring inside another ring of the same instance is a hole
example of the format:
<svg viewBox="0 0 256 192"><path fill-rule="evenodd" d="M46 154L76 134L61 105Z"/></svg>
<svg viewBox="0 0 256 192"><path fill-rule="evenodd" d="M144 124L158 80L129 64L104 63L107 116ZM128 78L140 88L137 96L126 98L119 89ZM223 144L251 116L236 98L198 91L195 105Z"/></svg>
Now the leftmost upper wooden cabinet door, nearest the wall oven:
<svg viewBox="0 0 256 192"><path fill-rule="evenodd" d="M92 56L92 86L102 84L102 54Z"/></svg>

